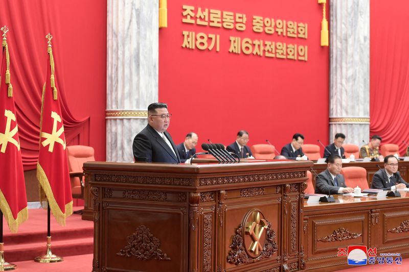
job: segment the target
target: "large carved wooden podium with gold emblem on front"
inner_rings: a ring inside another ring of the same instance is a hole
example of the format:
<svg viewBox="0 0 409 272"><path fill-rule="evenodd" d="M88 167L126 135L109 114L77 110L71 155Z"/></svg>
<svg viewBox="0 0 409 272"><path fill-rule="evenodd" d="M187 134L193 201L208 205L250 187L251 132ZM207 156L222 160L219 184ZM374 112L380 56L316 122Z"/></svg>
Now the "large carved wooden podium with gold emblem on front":
<svg viewBox="0 0 409 272"><path fill-rule="evenodd" d="M311 166L87 162L93 271L305 269L302 207Z"/></svg>

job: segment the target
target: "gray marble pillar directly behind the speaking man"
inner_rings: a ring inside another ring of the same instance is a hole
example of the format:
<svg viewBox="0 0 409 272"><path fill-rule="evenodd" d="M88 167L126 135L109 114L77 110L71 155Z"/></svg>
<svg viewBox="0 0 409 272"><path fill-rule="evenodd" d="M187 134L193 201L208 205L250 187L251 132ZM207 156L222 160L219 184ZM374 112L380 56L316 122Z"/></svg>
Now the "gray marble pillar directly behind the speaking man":
<svg viewBox="0 0 409 272"><path fill-rule="evenodd" d="M158 1L107 1L107 161L133 161L133 138L157 102L158 9Z"/></svg>

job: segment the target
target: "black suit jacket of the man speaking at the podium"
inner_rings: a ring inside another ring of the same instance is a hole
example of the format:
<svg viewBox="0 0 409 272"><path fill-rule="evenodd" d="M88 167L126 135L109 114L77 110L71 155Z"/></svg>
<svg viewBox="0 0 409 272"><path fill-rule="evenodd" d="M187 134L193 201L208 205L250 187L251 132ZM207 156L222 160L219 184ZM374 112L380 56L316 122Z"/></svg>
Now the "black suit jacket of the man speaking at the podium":
<svg viewBox="0 0 409 272"><path fill-rule="evenodd" d="M180 162L179 153L177 152L172 137L167 131L165 131L164 134L170 141L176 156L170 150L170 147L165 140L148 124L133 139L132 150L135 161Z"/></svg>

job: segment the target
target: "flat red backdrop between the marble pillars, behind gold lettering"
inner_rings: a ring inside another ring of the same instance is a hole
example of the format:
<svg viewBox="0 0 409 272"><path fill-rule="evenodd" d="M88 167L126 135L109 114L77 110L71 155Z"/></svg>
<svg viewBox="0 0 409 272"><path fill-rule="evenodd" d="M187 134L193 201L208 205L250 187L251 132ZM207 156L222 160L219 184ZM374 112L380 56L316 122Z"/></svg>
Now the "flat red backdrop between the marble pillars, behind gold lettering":
<svg viewBox="0 0 409 272"><path fill-rule="evenodd" d="M182 23L183 5L244 13L246 30ZM253 15L306 22L308 38L255 33ZM230 144L239 130L247 130L249 145L269 139L279 151L297 132L305 143L328 143L329 52L320 45L322 16L317 1L168 1L168 28L159 31L159 100L173 114L174 141L194 131L198 146L208 138ZM219 34L220 51L183 48L183 31ZM231 54L230 36L305 44L308 61Z"/></svg>

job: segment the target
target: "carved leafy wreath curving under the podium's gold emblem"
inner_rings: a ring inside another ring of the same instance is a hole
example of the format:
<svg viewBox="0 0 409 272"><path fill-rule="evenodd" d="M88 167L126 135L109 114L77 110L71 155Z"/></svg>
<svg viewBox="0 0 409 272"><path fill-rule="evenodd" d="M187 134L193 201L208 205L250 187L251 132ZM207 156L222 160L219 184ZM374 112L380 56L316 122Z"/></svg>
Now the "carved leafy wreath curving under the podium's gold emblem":
<svg viewBox="0 0 409 272"><path fill-rule="evenodd" d="M233 236L233 241L232 244L230 245L231 250L227 257L227 261L229 263L239 265L258 262L265 258L270 258L278 251L278 244L276 242L276 232L273 229L271 229L271 223L269 221L267 221L266 240L263 251L256 258L252 258L247 255L243 245L242 230L243 226L242 224L240 224L239 228L236 229L236 234Z"/></svg>

